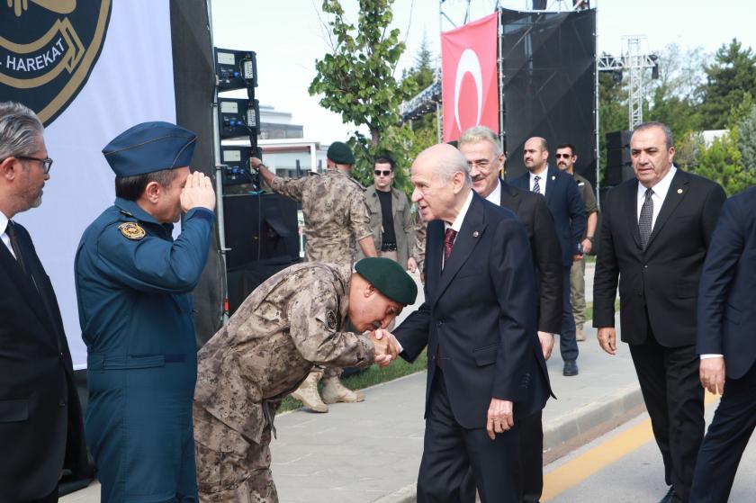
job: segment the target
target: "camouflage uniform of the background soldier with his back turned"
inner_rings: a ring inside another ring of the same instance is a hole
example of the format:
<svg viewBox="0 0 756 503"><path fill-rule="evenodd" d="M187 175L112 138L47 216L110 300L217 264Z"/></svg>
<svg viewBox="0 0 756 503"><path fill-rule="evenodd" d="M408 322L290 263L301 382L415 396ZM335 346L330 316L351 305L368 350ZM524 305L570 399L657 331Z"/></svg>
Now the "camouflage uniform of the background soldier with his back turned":
<svg viewBox="0 0 756 503"><path fill-rule="evenodd" d="M275 176L271 189L302 202L306 262L352 265L356 242L373 236L365 187L343 171L328 169L323 175L301 178ZM338 378L341 369L329 367L321 373Z"/></svg>

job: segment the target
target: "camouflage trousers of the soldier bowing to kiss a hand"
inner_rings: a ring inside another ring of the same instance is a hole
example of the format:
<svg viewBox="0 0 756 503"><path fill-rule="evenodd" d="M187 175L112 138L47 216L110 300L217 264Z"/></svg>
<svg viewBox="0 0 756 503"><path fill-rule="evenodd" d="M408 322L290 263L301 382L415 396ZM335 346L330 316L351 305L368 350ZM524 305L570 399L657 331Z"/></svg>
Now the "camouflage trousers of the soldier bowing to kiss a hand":
<svg viewBox="0 0 756 503"><path fill-rule="evenodd" d="M193 417L200 502L278 503L270 472L270 426L257 445L196 403Z"/></svg>

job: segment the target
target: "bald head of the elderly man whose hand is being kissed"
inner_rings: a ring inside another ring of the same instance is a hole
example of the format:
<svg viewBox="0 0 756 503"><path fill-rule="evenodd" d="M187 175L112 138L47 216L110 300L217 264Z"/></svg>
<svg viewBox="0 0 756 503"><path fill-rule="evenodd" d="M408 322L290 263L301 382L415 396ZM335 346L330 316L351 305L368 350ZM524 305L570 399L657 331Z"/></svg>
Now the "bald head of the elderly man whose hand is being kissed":
<svg viewBox="0 0 756 503"><path fill-rule="evenodd" d="M412 163L412 202L425 221L454 222L473 185L467 159L444 143L426 148Z"/></svg>

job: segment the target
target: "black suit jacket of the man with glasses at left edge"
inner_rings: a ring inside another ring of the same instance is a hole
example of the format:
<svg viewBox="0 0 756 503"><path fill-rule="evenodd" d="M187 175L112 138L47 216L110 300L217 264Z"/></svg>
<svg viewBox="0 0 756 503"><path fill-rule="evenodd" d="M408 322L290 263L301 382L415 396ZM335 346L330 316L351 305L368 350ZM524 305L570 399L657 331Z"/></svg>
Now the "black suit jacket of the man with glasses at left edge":
<svg viewBox="0 0 756 503"><path fill-rule="evenodd" d="M58 300L29 233L15 229L34 279L0 245L0 501L8 502L47 496L64 465L88 475Z"/></svg>

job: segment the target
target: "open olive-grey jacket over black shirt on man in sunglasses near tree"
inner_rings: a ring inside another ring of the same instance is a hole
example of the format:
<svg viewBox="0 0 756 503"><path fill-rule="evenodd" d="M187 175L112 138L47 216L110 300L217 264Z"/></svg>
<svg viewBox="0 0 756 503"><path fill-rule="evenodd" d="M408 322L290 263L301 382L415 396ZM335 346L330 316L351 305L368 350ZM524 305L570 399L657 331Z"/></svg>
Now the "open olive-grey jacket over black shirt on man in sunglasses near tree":
<svg viewBox="0 0 756 503"><path fill-rule="evenodd" d="M383 244L383 213L381 212L381 201L378 199L378 193L375 192L375 184L365 189L365 204L370 212L370 229L373 231L375 247L381 251ZM396 257L397 262L405 269L407 260L410 258L410 250L415 246L415 229L412 226L412 211L410 202L407 201L407 195L392 187L392 217L394 224L394 235L396 236ZM357 247L359 258L364 258L362 249Z"/></svg>

